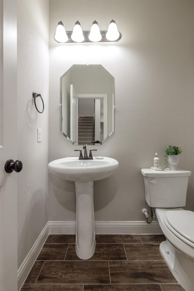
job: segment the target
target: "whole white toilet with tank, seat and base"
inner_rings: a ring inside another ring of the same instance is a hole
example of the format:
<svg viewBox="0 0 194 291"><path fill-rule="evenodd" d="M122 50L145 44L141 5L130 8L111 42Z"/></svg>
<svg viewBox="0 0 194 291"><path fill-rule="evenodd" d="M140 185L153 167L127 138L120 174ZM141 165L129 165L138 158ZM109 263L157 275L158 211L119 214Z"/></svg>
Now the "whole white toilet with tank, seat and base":
<svg viewBox="0 0 194 291"><path fill-rule="evenodd" d="M188 179L186 170L141 169L146 202L155 213L166 236L160 252L178 283L194 291L194 212L186 205Z"/></svg>

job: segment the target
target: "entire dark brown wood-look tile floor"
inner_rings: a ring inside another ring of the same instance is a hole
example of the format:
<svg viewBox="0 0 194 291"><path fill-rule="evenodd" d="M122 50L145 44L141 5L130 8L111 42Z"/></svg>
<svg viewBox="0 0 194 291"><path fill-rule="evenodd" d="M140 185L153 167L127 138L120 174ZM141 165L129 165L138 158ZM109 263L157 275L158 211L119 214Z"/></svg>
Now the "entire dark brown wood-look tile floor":
<svg viewBox="0 0 194 291"><path fill-rule="evenodd" d="M183 291L159 252L163 235L96 235L81 260L75 235L49 235L21 291Z"/></svg>

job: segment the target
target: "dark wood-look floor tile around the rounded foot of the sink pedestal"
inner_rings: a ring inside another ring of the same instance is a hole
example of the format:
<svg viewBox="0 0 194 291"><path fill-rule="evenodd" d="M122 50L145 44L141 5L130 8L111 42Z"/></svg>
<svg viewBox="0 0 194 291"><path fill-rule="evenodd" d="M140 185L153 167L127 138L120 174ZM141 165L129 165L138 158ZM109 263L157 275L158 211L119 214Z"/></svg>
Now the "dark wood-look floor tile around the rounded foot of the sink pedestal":
<svg viewBox="0 0 194 291"><path fill-rule="evenodd" d="M142 245L142 244L141 244ZM123 244L96 244L95 253L90 261L126 260ZM75 244L69 244L66 260L80 260L75 253Z"/></svg>

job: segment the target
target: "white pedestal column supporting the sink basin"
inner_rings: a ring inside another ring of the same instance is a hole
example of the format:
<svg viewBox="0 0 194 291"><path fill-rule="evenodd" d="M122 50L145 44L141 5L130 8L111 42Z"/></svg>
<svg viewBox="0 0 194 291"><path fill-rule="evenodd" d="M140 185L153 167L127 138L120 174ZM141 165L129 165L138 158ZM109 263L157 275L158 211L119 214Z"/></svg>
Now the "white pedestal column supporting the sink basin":
<svg viewBox="0 0 194 291"><path fill-rule="evenodd" d="M94 182L75 182L76 234L75 251L82 260L91 258L95 252L95 220L93 203Z"/></svg>

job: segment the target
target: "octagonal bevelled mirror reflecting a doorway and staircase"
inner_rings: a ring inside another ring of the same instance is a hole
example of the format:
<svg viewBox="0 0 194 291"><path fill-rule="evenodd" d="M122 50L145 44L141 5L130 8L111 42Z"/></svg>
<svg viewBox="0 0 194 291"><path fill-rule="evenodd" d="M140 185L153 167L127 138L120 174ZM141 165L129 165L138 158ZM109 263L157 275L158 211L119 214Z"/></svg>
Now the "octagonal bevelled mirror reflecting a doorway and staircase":
<svg viewBox="0 0 194 291"><path fill-rule="evenodd" d="M114 78L102 65L73 65L61 77L61 133L100 145L114 132Z"/></svg>

